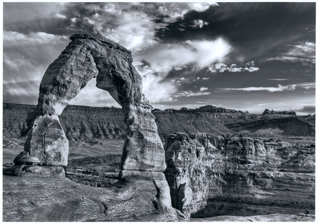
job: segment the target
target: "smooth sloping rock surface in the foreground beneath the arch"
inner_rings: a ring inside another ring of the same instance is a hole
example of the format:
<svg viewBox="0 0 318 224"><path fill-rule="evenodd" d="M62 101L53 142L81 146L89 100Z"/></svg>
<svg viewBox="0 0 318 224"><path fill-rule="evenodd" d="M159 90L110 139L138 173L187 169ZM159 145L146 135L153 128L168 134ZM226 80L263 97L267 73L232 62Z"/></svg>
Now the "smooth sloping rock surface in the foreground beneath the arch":
<svg viewBox="0 0 318 224"><path fill-rule="evenodd" d="M118 181L107 188L68 178L3 175L4 222L176 222L152 205L152 180Z"/></svg>

